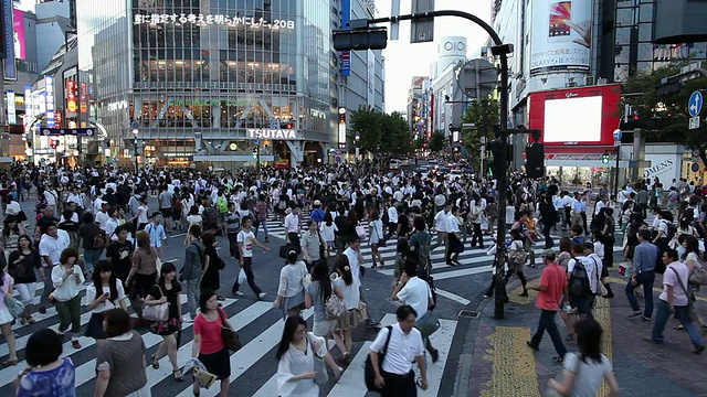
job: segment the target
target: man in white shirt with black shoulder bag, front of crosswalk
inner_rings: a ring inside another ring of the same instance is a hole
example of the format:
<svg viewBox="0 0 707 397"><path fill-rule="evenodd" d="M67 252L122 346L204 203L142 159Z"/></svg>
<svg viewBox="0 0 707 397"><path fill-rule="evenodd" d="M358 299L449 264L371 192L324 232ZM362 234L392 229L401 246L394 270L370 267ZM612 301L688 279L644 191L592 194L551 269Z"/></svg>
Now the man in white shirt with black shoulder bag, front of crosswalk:
<svg viewBox="0 0 707 397"><path fill-rule="evenodd" d="M395 311L398 323L381 329L371 344L370 357L376 385L382 389L381 396L418 396L413 362L420 369L420 387L428 388L428 368L424 363L422 335L414 328L418 313L410 305L401 305ZM380 363L380 352L386 355Z"/></svg>

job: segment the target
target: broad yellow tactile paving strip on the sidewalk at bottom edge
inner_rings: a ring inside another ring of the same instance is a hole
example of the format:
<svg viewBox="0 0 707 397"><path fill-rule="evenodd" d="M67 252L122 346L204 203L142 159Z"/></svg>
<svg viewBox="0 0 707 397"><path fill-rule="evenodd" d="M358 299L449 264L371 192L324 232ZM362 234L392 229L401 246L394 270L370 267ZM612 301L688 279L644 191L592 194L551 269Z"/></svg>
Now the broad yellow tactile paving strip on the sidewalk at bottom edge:
<svg viewBox="0 0 707 397"><path fill-rule="evenodd" d="M493 346L484 360L492 362L493 375L483 397L540 397L532 351L526 346L530 329L496 326L488 336Z"/></svg>

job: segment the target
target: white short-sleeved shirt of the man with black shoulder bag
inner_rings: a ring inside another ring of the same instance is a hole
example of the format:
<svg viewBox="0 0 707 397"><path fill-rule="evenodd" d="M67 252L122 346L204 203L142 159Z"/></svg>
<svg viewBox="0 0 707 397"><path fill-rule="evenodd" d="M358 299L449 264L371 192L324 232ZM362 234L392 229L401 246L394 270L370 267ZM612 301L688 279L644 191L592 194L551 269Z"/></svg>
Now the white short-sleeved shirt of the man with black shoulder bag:
<svg viewBox="0 0 707 397"><path fill-rule="evenodd" d="M400 324L393 324L391 332L382 367L387 373L405 375L412 371L412 363L415 357L421 356L424 351L422 334L415 328L405 334L402 332ZM378 336L371 344L371 352L380 353L386 345L387 339L388 328L386 326L378 332Z"/></svg>

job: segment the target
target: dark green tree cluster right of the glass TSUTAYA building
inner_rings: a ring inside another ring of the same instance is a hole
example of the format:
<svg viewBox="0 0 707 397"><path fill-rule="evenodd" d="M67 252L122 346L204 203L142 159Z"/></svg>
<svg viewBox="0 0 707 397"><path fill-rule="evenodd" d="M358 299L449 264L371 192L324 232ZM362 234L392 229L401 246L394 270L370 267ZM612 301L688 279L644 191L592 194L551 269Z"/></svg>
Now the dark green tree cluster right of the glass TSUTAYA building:
<svg viewBox="0 0 707 397"><path fill-rule="evenodd" d="M386 153L408 153L412 151L410 140L410 127L399 112L386 115L376 109L359 107L349 117L351 133L349 133L349 147L356 146L355 137L358 133L358 147L363 151L376 152L379 148Z"/></svg>

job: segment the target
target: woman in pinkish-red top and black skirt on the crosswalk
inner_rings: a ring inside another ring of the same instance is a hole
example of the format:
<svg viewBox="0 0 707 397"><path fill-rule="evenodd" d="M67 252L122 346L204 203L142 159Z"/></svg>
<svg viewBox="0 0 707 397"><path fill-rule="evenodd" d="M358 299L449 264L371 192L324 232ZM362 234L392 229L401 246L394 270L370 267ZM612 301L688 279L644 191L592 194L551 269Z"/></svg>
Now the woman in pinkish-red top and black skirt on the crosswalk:
<svg viewBox="0 0 707 397"><path fill-rule="evenodd" d="M200 313L194 319L191 356L198 357L207 371L221 380L221 397L225 397L229 395L231 358L221 336L221 326L228 318L223 309L219 308L219 301L213 291L201 292L199 308ZM194 379L194 396L199 395L199 382Z"/></svg>

